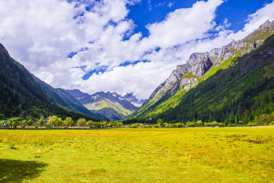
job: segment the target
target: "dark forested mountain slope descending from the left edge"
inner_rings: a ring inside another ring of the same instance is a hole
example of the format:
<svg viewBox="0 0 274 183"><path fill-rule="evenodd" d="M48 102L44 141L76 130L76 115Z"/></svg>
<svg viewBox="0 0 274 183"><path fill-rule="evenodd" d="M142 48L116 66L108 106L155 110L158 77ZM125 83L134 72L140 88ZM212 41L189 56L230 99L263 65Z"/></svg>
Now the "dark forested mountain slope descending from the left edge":
<svg viewBox="0 0 274 183"><path fill-rule="evenodd" d="M41 115L71 116L74 119L85 117L94 119L93 114L80 102L59 89L55 89L32 75L20 63L10 57L0 44L0 113L2 116Z"/></svg>

